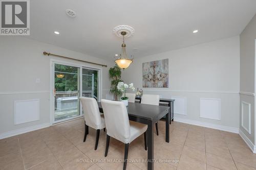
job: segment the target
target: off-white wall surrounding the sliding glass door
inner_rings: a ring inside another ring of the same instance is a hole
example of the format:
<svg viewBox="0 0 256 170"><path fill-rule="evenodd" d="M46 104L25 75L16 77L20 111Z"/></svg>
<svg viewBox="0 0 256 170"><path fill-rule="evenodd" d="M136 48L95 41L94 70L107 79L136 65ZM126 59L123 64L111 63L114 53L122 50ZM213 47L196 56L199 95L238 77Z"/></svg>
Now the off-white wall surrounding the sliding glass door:
<svg viewBox="0 0 256 170"><path fill-rule="evenodd" d="M108 69L113 65L113 62L34 41L22 36L1 36L0 138L30 130L31 128L29 127L37 129L49 126L50 59L56 58L42 55L44 51L108 65L108 67L103 67L102 71L102 98L105 98L106 94L109 93ZM70 60L58 58L57 60L70 62ZM37 78L40 79L40 83L36 83ZM14 101L31 99L40 100L40 119L35 122L14 125Z"/></svg>

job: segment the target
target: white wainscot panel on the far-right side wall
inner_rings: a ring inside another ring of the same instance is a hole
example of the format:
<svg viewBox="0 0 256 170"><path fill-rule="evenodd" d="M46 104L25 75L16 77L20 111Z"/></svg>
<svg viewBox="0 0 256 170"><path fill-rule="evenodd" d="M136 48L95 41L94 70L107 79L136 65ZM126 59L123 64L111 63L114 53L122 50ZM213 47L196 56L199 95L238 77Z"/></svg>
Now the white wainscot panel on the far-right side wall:
<svg viewBox="0 0 256 170"><path fill-rule="evenodd" d="M251 104L242 102L242 127L251 134Z"/></svg>

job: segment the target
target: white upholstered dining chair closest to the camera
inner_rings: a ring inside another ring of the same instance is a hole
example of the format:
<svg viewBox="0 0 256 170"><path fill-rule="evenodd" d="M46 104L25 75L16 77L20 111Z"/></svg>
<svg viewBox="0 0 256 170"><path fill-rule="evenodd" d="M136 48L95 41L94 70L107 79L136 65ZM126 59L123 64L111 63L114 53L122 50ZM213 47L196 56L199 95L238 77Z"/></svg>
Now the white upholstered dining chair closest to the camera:
<svg viewBox="0 0 256 170"><path fill-rule="evenodd" d="M106 150L108 156L110 137L113 137L125 144L123 169L126 169L129 144L144 133L145 150L147 125L129 121L127 109L123 102L101 100L106 124Z"/></svg>

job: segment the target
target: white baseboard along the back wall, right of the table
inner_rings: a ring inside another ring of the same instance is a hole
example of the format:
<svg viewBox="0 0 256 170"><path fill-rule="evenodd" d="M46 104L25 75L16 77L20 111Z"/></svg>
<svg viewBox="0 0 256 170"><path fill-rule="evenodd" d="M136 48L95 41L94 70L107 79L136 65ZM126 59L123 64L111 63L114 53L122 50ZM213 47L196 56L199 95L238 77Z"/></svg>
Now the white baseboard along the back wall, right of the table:
<svg viewBox="0 0 256 170"><path fill-rule="evenodd" d="M218 125L218 124L205 123L205 122L200 122L197 120L191 120L191 119L187 119L187 118L174 117L174 121L185 123L185 124L190 124L190 125L202 126L202 127L206 127L206 128L218 129L221 131L239 133L238 128L233 128L233 127L228 127L228 126L223 126L223 125Z"/></svg>

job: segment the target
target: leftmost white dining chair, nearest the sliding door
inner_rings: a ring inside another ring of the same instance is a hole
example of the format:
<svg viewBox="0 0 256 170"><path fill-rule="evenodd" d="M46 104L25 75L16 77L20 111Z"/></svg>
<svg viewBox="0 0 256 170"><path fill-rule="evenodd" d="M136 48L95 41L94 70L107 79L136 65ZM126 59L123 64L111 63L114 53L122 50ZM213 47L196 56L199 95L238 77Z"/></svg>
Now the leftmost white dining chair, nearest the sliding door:
<svg viewBox="0 0 256 170"><path fill-rule="evenodd" d="M89 127L96 129L96 141L94 150L97 150L100 130L104 129L105 131L106 127L104 115L100 114L97 101L94 98L80 97L80 101L84 113L83 142L86 141L86 136L89 134Z"/></svg>

